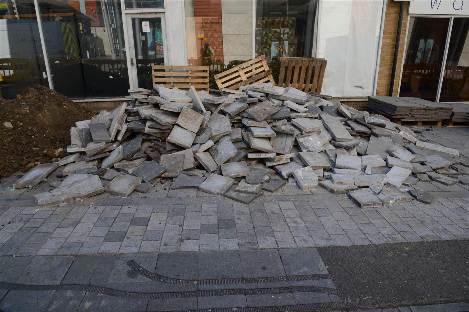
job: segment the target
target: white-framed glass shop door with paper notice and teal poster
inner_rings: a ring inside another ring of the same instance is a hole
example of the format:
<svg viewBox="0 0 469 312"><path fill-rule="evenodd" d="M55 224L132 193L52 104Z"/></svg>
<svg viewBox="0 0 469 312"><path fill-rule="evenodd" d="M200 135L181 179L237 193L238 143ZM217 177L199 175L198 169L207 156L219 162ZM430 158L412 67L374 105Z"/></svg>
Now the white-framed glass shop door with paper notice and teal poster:
<svg viewBox="0 0 469 312"><path fill-rule="evenodd" d="M126 13L130 88L151 89L152 65L168 65L164 13Z"/></svg>

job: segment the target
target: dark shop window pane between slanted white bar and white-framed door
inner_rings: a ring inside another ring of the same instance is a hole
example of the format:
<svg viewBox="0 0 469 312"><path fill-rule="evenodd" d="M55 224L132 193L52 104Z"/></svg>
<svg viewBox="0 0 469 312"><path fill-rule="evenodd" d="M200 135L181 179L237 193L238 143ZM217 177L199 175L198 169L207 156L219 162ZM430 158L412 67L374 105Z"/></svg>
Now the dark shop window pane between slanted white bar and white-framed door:
<svg viewBox="0 0 469 312"><path fill-rule="evenodd" d="M39 0L55 91L71 98L129 89L119 0Z"/></svg>

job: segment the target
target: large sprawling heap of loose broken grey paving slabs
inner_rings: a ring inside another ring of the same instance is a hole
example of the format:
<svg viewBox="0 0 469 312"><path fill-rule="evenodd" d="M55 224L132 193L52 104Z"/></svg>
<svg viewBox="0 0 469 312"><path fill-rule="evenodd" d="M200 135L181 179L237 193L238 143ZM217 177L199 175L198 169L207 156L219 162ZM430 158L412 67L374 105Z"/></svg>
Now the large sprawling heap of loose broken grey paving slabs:
<svg viewBox="0 0 469 312"><path fill-rule="evenodd" d="M172 179L171 189L198 188L242 203L286 183L303 191L322 187L364 208L431 202L431 194L402 185L469 180L469 163L457 150L429 143L424 128L293 87L197 92L159 85L129 93L129 102L113 111L77 121L68 156L38 165L14 188L35 187L63 166L64 179L35 196L40 206L102 192L146 193Z"/></svg>

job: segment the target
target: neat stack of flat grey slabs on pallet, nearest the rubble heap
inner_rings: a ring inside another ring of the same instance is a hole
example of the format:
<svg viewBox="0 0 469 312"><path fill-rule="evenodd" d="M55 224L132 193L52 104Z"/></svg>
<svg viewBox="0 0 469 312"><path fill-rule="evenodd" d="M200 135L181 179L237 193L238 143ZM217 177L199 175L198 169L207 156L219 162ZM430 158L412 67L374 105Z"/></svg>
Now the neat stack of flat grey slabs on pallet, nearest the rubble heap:
<svg viewBox="0 0 469 312"><path fill-rule="evenodd" d="M368 107L401 121L442 121L451 116L453 106L416 97L368 96Z"/></svg>

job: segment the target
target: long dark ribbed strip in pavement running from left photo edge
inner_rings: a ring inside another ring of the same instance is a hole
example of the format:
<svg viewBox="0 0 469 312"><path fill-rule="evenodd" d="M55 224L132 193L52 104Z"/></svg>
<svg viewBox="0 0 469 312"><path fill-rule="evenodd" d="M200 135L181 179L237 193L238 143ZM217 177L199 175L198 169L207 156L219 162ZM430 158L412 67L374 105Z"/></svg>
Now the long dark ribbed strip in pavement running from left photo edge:
<svg viewBox="0 0 469 312"><path fill-rule="evenodd" d="M79 285L79 284L57 284L57 285L30 285L18 283L0 282L0 289L23 290L23 291L44 291L44 290L66 290L66 291L90 291L102 295L120 298L133 299L174 299L189 297L219 297L233 295L266 295L266 294L286 294L294 292L319 292L325 294L339 295L339 291L333 288L318 286L288 286L269 287L253 289L219 289L219 290L195 290L195 291L168 291L168 292L132 292L116 290L103 286Z"/></svg>

